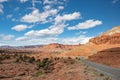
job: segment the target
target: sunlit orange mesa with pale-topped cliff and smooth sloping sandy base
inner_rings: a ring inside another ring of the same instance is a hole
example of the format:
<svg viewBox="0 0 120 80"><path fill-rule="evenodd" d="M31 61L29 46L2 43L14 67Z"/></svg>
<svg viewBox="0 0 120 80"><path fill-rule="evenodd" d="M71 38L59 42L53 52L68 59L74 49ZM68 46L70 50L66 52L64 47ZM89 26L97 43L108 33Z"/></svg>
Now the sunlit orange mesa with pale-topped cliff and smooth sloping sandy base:
<svg viewBox="0 0 120 80"><path fill-rule="evenodd" d="M114 47L120 47L120 26L114 27L102 35L90 39L87 44L75 47L73 50L61 55L88 58L91 55L97 54L99 51Z"/></svg>

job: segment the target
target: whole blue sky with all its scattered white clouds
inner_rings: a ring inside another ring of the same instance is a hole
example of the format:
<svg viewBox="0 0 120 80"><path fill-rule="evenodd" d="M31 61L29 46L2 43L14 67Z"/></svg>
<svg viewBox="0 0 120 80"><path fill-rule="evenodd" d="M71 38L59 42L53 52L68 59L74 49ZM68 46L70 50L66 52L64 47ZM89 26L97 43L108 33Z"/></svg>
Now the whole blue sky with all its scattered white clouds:
<svg viewBox="0 0 120 80"><path fill-rule="evenodd" d="M0 45L78 44L120 25L120 0L0 0Z"/></svg>

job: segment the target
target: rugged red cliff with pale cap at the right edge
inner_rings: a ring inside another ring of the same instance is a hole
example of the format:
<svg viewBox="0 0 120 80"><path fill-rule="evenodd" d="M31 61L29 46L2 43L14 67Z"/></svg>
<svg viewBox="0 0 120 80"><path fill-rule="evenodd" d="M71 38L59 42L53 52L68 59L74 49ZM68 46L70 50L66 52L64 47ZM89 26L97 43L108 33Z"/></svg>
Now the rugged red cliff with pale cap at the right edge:
<svg viewBox="0 0 120 80"><path fill-rule="evenodd" d="M102 35L90 39L91 43L100 44L120 44L120 26L103 33Z"/></svg>

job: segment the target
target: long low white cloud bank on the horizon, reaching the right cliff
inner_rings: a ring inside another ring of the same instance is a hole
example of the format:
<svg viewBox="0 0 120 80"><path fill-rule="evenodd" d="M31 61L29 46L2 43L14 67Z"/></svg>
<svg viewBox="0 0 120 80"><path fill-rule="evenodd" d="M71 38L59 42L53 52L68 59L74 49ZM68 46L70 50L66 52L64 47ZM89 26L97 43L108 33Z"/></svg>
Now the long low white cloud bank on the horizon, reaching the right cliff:
<svg viewBox="0 0 120 80"><path fill-rule="evenodd" d="M70 37L70 38L56 38L56 37L44 37L44 38L28 38L28 37L19 37L16 39L17 43L21 43L21 45L38 45L38 44L50 44L50 43L61 43L61 44L85 44L92 37L88 37L85 35L80 35L78 37Z"/></svg>

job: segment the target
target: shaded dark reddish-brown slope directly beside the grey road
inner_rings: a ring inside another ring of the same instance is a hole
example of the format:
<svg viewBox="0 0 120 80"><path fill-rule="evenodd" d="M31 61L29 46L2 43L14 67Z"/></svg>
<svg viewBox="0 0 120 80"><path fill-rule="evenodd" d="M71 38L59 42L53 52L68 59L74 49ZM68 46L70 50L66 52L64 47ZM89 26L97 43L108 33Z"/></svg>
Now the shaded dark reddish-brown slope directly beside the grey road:
<svg viewBox="0 0 120 80"><path fill-rule="evenodd" d="M120 47L109 48L88 57L88 60L120 68Z"/></svg>

